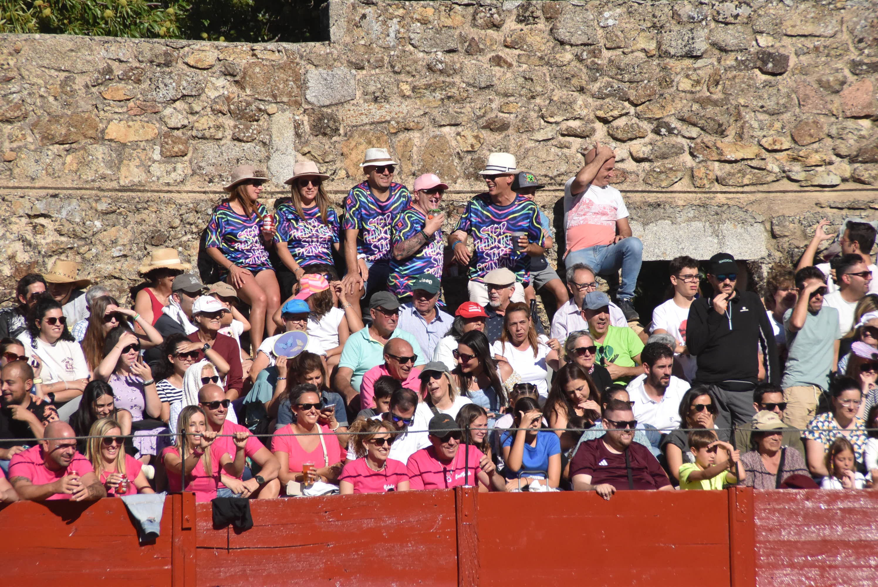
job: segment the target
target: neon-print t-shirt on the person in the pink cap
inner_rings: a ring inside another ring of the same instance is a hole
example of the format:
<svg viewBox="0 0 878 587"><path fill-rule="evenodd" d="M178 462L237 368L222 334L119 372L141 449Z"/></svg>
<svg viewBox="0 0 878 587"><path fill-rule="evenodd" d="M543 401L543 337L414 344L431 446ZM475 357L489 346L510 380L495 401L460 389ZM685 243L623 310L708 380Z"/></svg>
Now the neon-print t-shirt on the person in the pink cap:
<svg viewBox="0 0 878 587"><path fill-rule="evenodd" d="M409 206L402 211L391 228L391 249L417 235L427 217L414 206ZM443 268L443 234L442 228L433 233L433 242L427 243L412 257L397 261L390 257L390 279L387 280L387 289L391 294L401 297L412 293L412 283L424 273L430 273L442 279Z"/></svg>

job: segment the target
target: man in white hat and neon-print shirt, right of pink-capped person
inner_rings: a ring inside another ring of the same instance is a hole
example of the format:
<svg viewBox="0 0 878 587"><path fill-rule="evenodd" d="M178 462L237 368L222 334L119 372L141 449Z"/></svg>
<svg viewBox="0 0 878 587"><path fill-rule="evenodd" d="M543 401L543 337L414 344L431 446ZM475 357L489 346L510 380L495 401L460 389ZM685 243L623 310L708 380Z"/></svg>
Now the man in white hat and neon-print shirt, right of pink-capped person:
<svg viewBox="0 0 878 587"><path fill-rule="evenodd" d="M514 155L488 156L485 169L479 171L488 191L470 200L449 237L457 263L470 268L470 300L482 306L488 303L485 276L500 267L515 273L512 301L524 301L524 287L530 283L529 257L542 255L545 250L539 209L512 189L516 173ZM475 254L466 247L469 235Z"/></svg>

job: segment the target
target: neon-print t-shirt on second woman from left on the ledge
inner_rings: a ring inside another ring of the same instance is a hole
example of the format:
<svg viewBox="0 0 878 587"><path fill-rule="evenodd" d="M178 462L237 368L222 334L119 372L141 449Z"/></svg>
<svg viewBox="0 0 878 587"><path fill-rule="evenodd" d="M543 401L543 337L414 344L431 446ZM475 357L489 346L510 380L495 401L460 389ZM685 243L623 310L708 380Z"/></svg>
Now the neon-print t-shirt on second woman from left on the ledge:
<svg viewBox="0 0 878 587"><path fill-rule="evenodd" d="M327 209L327 223L320 220L320 207L302 208L304 220L289 199L275 208L276 243L286 243L292 258L304 267L315 263L333 265L332 245L338 243L338 214Z"/></svg>

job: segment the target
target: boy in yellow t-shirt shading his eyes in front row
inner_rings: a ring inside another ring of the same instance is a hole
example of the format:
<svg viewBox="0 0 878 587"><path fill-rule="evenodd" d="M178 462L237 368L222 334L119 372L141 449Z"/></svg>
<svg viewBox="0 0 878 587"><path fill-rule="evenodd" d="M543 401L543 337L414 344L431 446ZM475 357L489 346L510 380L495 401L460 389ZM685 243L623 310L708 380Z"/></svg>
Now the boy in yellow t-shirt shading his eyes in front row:
<svg viewBox="0 0 878 587"><path fill-rule="evenodd" d="M717 456L717 448L723 449L722 456ZM689 450L695 462L680 465L680 489L723 489L724 483L738 482L741 453L728 442L716 438L714 431L689 432ZM718 459L722 460L717 462ZM740 475L743 480L746 475L743 469Z"/></svg>

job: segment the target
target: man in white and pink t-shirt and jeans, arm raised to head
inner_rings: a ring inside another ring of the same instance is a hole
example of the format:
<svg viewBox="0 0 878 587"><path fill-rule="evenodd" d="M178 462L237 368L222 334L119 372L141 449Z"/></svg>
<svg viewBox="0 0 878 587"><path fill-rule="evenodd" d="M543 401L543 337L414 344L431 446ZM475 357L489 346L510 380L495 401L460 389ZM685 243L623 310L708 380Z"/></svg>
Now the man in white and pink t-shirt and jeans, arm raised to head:
<svg viewBox="0 0 878 587"><path fill-rule="evenodd" d="M613 149L595 142L594 149L586 153L586 164L564 186L565 265L582 263L598 275L621 269L616 302L625 318L632 321L640 317L631 299L644 245L637 236L631 236L622 194L609 185L614 166Z"/></svg>

